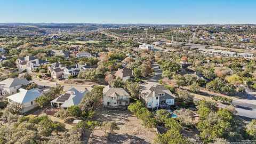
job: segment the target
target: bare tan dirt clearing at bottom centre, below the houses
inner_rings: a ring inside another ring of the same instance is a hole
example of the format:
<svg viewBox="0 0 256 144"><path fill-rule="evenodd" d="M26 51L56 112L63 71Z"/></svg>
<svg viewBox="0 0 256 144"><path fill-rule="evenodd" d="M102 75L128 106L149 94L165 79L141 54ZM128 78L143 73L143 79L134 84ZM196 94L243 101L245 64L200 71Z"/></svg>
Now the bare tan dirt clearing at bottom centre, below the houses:
<svg viewBox="0 0 256 144"><path fill-rule="evenodd" d="M115 133L107 140L102 127L98 127L93 131L88 143L152 143L156 135L156 131L145 128L142 121L129 110L99 111L95 119L100 122L116 122L119 130L115 130Z"/></svg>

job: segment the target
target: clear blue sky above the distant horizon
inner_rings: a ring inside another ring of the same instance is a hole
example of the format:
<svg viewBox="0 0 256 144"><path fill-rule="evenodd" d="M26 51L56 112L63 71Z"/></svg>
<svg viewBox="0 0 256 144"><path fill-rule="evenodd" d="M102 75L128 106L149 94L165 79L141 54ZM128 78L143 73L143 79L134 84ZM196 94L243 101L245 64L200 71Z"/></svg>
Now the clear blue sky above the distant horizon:
<svg viewBox="0 0 256 144"><path fill-rule="evenodd" d="M0 0L2 22L256 24L254 0Z"/></svg>

